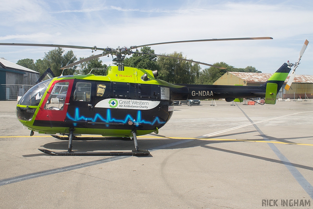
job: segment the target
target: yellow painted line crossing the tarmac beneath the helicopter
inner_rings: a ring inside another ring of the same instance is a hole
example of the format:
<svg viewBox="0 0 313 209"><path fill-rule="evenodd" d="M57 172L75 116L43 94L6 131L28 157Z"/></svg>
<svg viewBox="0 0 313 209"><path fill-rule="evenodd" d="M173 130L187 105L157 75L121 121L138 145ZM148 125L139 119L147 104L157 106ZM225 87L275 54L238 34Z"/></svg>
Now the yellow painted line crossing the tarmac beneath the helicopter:
<svg viewBox="0 0 313 209"><path fill-rule="evenodd" d="M0 138L28 138L28 137L52 137L52 136L0 136ZM87 136L81 136L81 137L87 137ZM95 137L105 138L104 136L95 136ZM252 139L189 138L189 137L185 138L185 137L162 137L162 136L137 136L137 138L142 138L146 140L148 139L196 139L196 140L206 140L206 141L241 141L241 142L261 142L261 143L273 143L273 144L296 144L296 145L313 146L313 144L286 143L286 142L252 140Z"/></svg>

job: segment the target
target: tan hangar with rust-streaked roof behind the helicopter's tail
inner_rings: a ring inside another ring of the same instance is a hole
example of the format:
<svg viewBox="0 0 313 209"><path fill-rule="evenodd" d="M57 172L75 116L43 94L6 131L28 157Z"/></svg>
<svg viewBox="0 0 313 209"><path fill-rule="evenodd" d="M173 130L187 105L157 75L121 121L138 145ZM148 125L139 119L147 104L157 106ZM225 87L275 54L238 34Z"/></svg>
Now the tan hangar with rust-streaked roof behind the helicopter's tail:
<svg viewBox="0 0 313 209"><path fill-rule="evenodd" d="M243 85L243 86L262 86L272 73L246 73L246 72L226 72L213 85ZM277 95L282 99L313 99L313 75L295 75L295 79L290 86L289 91L285 90L285 85L289 76L284 82Z"/></svg>

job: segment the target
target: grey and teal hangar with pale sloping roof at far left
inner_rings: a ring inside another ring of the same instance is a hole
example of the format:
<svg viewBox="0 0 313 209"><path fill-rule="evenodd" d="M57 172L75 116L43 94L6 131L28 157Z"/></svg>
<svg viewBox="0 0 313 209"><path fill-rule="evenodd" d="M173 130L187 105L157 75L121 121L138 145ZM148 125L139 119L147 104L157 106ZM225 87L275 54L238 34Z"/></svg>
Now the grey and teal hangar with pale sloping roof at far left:
<svg viewBox="0 0 313 209"><path fill-rule="evenodd" d="M38 72L0 58L0 100L16 100L38 79Z"/></svg>

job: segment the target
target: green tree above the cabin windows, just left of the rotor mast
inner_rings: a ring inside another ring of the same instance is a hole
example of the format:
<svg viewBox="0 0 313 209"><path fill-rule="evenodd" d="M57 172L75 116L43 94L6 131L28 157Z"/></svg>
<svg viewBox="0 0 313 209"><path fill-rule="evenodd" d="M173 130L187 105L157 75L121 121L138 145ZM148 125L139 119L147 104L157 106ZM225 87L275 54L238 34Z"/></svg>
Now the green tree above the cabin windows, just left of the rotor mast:
<svg viewBox="0 0 313 209"><path fill-rule="evenodd" d="M91 55L94 56L94 55ZM80 57L80 60L84 59L84 57ZM100 68L100 69L94 69L91 71L93 68ZM80 64L80 72L78 74L83 74L87 75L90 71L92 74L95 74L97 76L106 76L106 71L107 71L108 66L107 65L102 65L102 61L100 58L95 58L88 60L86 62L83 62Z"/></svg>

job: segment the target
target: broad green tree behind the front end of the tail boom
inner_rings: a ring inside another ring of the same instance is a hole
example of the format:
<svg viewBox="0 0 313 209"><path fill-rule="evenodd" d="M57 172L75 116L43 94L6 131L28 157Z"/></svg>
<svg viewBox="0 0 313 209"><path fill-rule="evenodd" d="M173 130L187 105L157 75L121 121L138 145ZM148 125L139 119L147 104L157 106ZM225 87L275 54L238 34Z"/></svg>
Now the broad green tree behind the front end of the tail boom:
<svg viewBox="0 0 313 209"><path fill-rule="evenodd" d="M186 59L181 52L177 53L176 51L172 54L167 54L167 56ZM158 57L157 63L160 66L158 78L177 84L194 83L198 79L201 69L198 64L169 57Z"/></svg>

